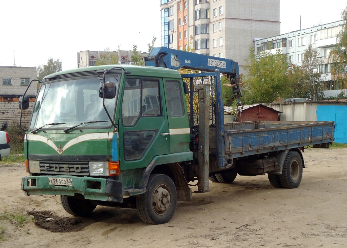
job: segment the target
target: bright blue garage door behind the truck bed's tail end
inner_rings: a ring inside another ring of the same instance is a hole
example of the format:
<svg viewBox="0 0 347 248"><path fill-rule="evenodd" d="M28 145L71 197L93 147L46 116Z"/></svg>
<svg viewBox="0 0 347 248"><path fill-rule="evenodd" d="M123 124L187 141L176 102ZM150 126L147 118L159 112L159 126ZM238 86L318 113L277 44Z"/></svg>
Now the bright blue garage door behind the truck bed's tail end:
<svg viewBox="0 0 347 248"><path fill-rule="evenodd" d="M317 106L317 121L335 121L336 143L347 143L347 106Z"/></svg>

